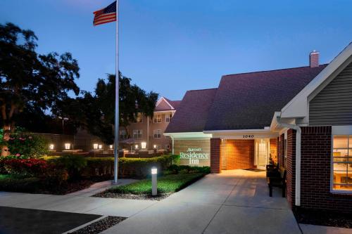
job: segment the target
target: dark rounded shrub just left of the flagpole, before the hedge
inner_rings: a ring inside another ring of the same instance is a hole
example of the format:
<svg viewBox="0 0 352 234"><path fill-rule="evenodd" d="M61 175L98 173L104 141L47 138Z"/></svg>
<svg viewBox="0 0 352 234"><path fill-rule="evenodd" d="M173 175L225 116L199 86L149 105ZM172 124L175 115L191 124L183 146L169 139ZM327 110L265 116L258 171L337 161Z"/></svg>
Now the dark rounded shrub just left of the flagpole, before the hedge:
<svg viewBox="0 0 352 234"><path fill-rule="evenodd" d="M54 162L57 167L65 168L70 178L79 178L84 167L87 166L87 160L82 155L63 155L51 162Z"/></svg>

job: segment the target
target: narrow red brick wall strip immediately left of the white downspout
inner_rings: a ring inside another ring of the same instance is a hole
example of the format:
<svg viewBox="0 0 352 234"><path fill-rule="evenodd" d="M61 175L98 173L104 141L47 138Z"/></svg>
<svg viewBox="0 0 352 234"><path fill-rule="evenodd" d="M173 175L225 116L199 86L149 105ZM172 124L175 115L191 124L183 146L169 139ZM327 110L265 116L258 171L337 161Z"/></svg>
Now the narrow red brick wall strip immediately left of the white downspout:
<svg viewBox="0 0 352 234"><path fill-rule="evenodd" d="M287 201L292 207L295 202L296 187L296 130L289 129L287 131L287 162L285 165L287 171Z"/></svg>

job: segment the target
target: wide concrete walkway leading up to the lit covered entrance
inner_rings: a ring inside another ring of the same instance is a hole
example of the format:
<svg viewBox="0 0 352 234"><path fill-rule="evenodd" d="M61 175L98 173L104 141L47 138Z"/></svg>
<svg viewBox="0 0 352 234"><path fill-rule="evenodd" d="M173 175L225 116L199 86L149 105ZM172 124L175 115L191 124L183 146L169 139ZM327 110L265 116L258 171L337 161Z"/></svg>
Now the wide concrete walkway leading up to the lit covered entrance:
<svg viewBox="0 0 352 234"><path fill-rule="evenodd" d="M210 174L103 233L301 233L280 194L265 172Z"/></svg>

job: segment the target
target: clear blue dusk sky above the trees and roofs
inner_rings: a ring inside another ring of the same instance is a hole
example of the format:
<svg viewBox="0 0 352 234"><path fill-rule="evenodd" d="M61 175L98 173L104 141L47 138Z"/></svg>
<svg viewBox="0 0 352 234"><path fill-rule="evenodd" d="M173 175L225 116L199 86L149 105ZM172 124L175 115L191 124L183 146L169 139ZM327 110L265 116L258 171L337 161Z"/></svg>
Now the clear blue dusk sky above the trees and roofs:
<svg viewBox="0 0 352 234"><path fill-rule="evenodd" d="M115 72L115 24L92 26L113 0L1 0L0 22L39 37L39 53L69 51L81 89ZM172 100L218 86L222 74L328 63L352 41L352 1L120 0L120 71Z"/></svg>

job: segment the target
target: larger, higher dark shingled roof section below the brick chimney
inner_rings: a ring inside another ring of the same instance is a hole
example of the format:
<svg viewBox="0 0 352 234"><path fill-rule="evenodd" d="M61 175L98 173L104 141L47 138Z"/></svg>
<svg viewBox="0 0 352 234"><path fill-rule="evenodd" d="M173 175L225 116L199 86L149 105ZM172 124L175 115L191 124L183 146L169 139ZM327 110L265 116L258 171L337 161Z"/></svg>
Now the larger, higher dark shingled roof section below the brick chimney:
<svg viewBox="0 0 352 234"><path fill-rule="evenodd" d="M204 130L263 129L270 126L274 112L289 103L326 66L223 76Z"/></svg>

